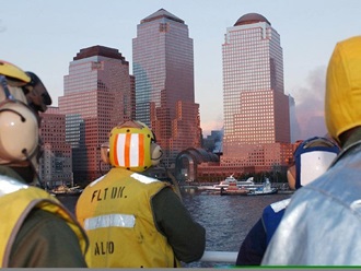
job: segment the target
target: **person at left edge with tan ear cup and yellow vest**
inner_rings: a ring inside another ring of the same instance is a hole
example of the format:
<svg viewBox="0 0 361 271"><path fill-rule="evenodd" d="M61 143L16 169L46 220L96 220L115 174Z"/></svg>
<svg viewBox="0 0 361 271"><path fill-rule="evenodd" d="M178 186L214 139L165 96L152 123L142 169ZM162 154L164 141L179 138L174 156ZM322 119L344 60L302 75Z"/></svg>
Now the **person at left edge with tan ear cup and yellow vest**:
<svg viewBox="0 0 361 271"><path fill-rule="evenodd" d="M0 267L84 268L88 237L42 184L39 115L51 98L38 76L0 60Z"/></svg>

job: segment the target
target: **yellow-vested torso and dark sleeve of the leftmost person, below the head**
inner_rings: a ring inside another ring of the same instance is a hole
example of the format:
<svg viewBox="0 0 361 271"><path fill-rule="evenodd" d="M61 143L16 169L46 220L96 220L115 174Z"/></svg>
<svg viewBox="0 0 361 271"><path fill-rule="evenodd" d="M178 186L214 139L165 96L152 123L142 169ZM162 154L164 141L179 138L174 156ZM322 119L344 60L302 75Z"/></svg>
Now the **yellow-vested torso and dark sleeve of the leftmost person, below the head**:
<svg viewBox="0 0 361 271"><path fill-rule="evenodd" d="M88 267L85 233L57 199L5 175L0 187L2 268Z"/></svg>

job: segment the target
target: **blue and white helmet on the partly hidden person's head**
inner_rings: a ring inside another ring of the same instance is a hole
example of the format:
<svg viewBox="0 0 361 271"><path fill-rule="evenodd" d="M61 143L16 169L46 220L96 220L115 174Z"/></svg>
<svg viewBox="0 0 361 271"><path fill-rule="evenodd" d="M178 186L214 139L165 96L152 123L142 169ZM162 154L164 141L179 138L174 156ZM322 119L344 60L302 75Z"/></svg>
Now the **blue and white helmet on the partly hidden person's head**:
<svg viewBox="0 0 361 271"><path fill-rule="evenodd" d="M339 152L338 145L326 138L303 141L294 151L294 165L287 172L289 182L295 184L295 189L312 182L328 169Z"/></svg>

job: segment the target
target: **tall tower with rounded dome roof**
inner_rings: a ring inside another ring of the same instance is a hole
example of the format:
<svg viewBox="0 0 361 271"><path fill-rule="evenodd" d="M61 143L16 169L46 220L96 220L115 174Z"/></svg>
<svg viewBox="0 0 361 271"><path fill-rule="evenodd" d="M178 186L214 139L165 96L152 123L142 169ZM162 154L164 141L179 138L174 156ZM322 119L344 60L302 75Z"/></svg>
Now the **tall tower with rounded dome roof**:
<svg viewBox="0 0 361 271"><path fill-rule="evenodd" d="M284 165L290 146L289 96L283 90L280 36L257 13L241 16L222 45L222 165Z"/></svg>

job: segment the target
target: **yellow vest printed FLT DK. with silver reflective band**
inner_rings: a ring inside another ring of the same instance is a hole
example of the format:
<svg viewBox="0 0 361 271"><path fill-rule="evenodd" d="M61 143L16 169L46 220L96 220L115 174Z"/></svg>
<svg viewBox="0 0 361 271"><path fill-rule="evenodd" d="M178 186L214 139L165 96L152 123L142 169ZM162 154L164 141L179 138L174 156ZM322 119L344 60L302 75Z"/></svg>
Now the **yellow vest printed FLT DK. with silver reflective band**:
<svg viewBox="0 0 361 271"><path fill-rule="evenodd" d="M156 227L151 199L167 182L124 168L91 182L75 213L90 239L90 268L178 267L172 247Z"/></svg>

